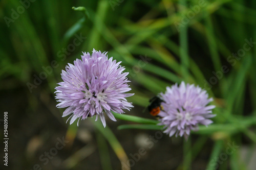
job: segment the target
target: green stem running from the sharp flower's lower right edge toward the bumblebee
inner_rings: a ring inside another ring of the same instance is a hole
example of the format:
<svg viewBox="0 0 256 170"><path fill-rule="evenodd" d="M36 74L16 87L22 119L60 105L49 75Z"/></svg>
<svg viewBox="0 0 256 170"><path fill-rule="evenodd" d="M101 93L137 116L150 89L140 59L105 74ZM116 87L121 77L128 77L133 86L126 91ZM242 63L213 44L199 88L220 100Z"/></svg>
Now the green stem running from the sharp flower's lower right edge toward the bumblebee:
<svg viewBox="0 0 256 170"><path fill-rule="evenodd" d="M135 122L135 123L140 123L140 124L153 124L156 125L159 122L157 120L149 119L149 118L143 118L143 117L138 117L138 116L132 116L132 115L127 115L127 114L118 114L115 112L112 112L113 115L121 120L127 120L130 122Z"/></svg>

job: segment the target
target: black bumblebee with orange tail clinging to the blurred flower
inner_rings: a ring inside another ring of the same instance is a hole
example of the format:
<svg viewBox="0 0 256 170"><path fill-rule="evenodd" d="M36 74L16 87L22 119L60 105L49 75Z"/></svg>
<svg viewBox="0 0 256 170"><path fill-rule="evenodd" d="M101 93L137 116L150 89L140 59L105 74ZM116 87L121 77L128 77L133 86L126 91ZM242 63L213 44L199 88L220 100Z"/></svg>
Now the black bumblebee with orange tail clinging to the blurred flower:
<svg viewBox="0 0 256 170"><path fill-rule="evenodd" d="M164 102L158 96L154 96L150 99L150 105L147 106L148 111L152 116L157 116L161 110L163 110L163 106L161 103Z"/></svg>

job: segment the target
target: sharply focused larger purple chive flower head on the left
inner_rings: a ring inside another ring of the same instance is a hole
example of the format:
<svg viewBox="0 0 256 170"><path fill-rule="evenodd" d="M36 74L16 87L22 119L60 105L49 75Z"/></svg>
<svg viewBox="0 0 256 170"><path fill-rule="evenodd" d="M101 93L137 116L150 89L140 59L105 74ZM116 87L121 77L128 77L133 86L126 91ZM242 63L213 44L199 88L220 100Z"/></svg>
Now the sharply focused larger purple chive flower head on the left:
<svg viewBox="0 0 256 170"><path fill-rule="evenodd" d="M131 88L127 85L128 72L106 53L93 49L92 56L83 53L82 60L76 59L74 65L68 63L66 71L62 70L63 82L55 89L58 108L66 108L62 117L72 114L69 119L72 124L77 118L86 119L96 115L105 127L104 114L116 121L111 111L123 113L123 109L130 110L133 105L125 99L132 96ZM79 122L78 119L78 122ZM77 126L78 126L77 122Z"/></svg>

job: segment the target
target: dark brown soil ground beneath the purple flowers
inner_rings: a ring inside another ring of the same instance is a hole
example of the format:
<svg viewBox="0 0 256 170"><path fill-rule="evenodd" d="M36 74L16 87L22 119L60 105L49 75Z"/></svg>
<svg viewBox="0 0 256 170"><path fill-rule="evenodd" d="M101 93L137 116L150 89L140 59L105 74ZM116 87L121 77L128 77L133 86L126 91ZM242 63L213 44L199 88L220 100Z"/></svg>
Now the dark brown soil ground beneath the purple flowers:
<svg viewBox="0 0 256 170"><path fill-rule="evenodd" d="M97 133L89 120L79 123L74 141L67 143L56 155L50 157L49 162L46 156L42 156L45 152L54 153L52 148L55 148L58 138L66 136L68 124L61 117L63 110L55 107L56 101L51 93L38 88L28 95L26 90L1 91L1 96L5 96L0 102L2 112L8 111L9 116L8 169L102 169ZM127 114L154 118L147 111L143 113L143 110L144 108L135 106L133 112ZM122 124L128 123L123 120L107 121L129 157L132 169L183 169L182 166L179 167L183 160L182 138L169 138L153 130L117 130ZM198 137L191 136L192 144ZM206 142L192 162L191 169L206 168L211 144L211 141ZM107 145L113 169L121 169L119 159L109 143ZM123 164L126 167L125 162Z"/></svg>

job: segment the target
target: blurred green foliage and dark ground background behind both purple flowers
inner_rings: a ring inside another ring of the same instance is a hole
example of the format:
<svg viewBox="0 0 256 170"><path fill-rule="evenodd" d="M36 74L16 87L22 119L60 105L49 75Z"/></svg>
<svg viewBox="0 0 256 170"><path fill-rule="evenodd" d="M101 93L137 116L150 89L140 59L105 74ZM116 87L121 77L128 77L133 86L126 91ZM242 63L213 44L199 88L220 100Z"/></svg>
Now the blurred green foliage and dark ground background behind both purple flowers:
<svg viewBox="0 0 256 170"><path fill-rule="evenodd" d="M89 17L73 6L86 7ZM256 1L2 0L0 9L10 169L255 169ZM55 108L54 88L67 63L93 48L130 72L135 107L126 114L154 119L143 112L148 100L185 81L215 99L215 124L187 142L164 134L152 148L145 141L157 131L117 130L131 124L124 120L106 129L90 120L69 126ZM41 161L63 136L67 146ZM222 158L228 143L239 149ZM136 161L139 148L146 154Z"/></svg>

